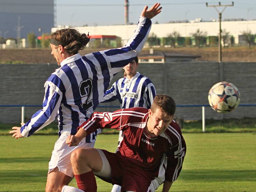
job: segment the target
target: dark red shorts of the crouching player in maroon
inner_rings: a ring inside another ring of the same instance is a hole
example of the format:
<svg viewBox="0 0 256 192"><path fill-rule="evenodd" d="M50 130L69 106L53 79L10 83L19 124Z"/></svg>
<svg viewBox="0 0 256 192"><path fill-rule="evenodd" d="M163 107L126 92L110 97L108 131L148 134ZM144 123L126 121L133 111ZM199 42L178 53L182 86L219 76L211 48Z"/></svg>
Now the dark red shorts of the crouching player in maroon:
<svg viewBox="0 0 256 192"><path fill-rule="evenodd" d="M111 183L122 186L123 191L148 192L155 177L139 167L125 164L116 153L103 150L111 167Z"/></svg>

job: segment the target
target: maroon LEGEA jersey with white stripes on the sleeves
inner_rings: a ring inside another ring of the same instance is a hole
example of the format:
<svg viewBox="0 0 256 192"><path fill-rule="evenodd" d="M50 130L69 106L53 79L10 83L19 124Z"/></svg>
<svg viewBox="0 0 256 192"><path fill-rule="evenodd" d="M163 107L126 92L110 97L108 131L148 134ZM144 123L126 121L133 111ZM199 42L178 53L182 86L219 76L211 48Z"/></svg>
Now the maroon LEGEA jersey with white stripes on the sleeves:
<svg viewBox="0 0 256 192"><path fill-rule="evenodd" d="M147 108L119 109L113 113L94 112L78 128L85 129L88 134L98 128L122 130L123 140L116 152L122 163L157 177L159 184L164 180L175 181L186 154L186 143L180 127L172 121L165 132L150 138L144 129L147 121Z"/></svg>

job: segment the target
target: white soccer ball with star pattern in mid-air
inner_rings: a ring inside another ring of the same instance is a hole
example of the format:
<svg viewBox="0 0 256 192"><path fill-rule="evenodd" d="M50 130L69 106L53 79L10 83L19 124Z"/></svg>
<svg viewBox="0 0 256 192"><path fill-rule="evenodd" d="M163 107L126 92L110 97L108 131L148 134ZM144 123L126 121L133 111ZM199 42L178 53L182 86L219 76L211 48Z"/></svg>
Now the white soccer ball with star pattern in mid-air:
<svg viewBox="0 0 256 192"><path fill-rule="evenodd" d="M213 110L228 113L239 105L240 93L232 83L219 82L210 89L208 101Z"/></svg>

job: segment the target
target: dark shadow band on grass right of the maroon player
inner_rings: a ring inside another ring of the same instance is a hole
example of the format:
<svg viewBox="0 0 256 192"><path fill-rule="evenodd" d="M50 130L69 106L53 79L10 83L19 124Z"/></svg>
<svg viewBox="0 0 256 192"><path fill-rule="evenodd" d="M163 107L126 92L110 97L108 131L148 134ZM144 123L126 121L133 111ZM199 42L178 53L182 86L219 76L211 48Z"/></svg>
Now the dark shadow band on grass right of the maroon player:
<svg viewBox="0 0 256 192"><path fill-rule="evenodd" d="M182 170L180 180L193 182L256 181L256 170Z"/></svg>

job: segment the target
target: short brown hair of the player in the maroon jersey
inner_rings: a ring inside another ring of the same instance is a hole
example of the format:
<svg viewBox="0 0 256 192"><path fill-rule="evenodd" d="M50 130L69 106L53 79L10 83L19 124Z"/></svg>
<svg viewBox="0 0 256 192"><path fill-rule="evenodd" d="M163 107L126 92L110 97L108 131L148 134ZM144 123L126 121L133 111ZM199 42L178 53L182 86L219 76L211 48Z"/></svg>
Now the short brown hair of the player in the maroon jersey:
<svg viewBox="0 0 256 192"><path fill-rule="evenodd" d="M154 113L157 108L162 110L164 114L173 116L176 110L176 104L169 95L156 95L150 109Z"/></svg>

